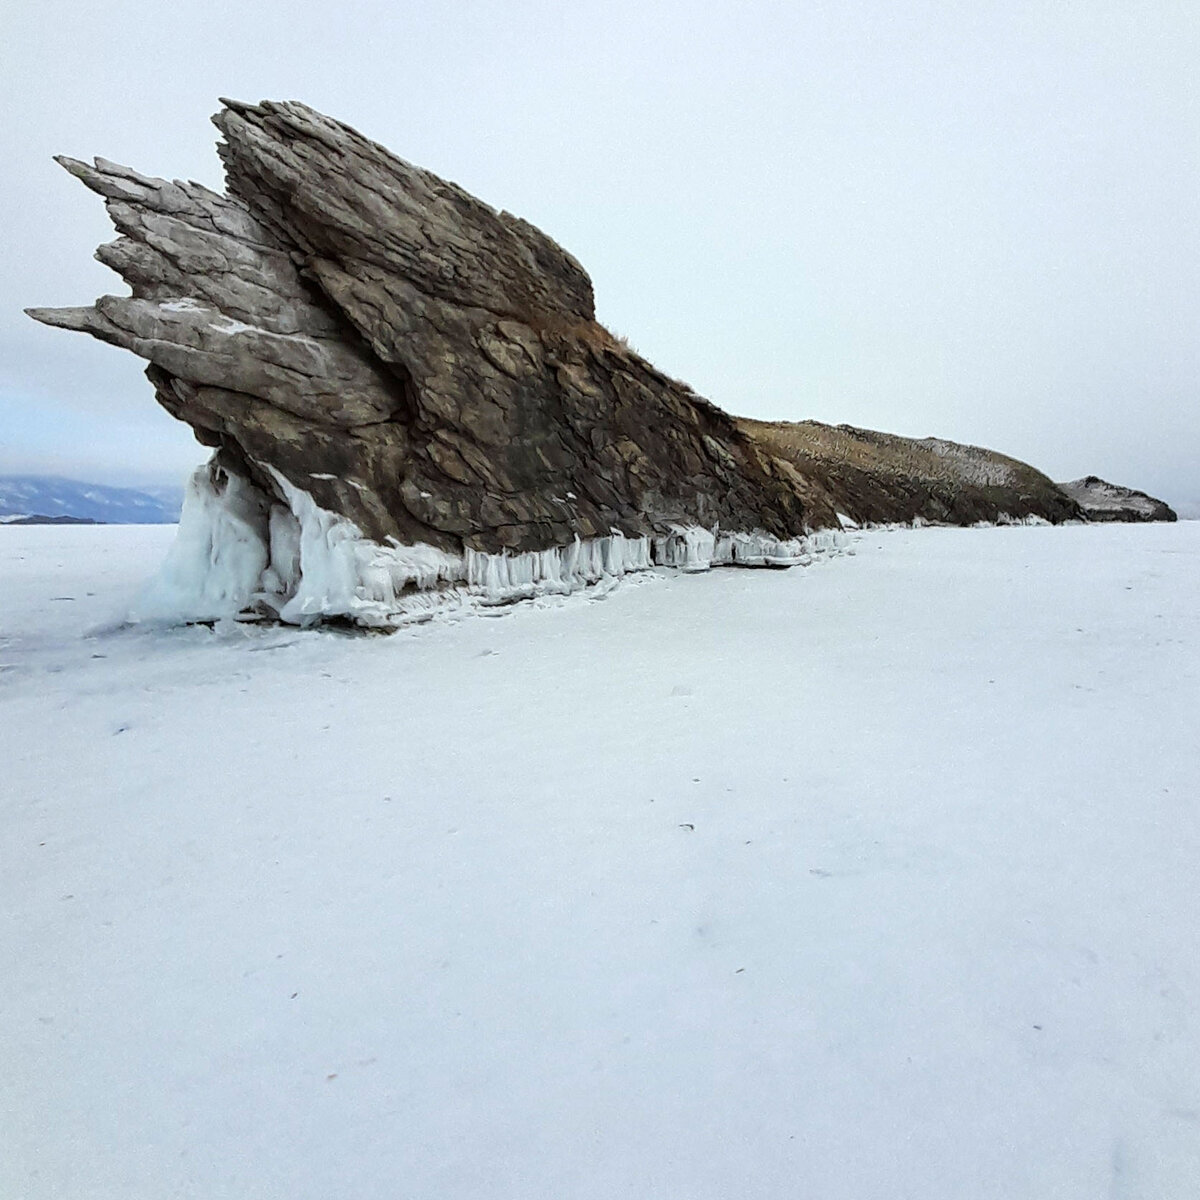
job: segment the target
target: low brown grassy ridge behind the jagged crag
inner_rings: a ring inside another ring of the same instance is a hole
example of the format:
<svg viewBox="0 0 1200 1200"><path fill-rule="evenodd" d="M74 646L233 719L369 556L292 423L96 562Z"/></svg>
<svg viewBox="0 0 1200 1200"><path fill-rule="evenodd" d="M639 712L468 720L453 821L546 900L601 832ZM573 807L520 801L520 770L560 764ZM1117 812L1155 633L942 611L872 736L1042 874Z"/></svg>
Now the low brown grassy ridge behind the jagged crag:
<svg viewBox="0 0 1200 1200"><path fill-rule="evenodd" d="M1060 522L1080 515L1075 502L1039 470L995 450L820 421L738 425L790 462L805 488L858 524Z"/></svg>

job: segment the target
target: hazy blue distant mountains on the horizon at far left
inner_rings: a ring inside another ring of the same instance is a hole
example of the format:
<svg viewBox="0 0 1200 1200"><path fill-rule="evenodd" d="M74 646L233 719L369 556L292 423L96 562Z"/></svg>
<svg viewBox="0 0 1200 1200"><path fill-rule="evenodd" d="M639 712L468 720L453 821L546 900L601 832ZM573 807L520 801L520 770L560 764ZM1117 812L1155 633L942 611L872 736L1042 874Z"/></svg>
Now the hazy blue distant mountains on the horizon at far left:
<svg viewBox="0 0 1200 1200"><path fill-rule="evenodd" d="M182 487L109 487L56 475L0 475L0 524L174 524Z"/></svg>

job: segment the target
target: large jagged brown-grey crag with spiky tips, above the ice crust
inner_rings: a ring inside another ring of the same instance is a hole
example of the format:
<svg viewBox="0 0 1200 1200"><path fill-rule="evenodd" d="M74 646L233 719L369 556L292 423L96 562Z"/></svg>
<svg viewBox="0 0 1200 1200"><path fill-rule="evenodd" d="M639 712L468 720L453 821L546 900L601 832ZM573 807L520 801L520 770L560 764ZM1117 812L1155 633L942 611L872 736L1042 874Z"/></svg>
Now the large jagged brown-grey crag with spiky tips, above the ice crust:
<svg viewBox="0 0 1200 1200"><path fill-rule="evenodd" d="M226 469L266 467L376 540L528 551L822 523L730 416L595 322L565 251L294 103L215 118L228 196L60 160L128 298L32 310L151 364Z"/></svg>

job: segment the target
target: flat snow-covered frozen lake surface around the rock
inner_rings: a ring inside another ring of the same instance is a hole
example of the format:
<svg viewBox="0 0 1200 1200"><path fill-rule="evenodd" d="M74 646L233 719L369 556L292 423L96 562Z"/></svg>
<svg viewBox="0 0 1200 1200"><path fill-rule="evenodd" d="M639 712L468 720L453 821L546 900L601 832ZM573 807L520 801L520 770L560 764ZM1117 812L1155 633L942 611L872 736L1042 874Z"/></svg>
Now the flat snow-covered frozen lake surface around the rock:
<svg viewBox="0 0 1200 1200"><path fill-rule="evenodd" d="M0 1195L1200 1194L1200 524L121 626L173 533L0 528Z"/></svg>

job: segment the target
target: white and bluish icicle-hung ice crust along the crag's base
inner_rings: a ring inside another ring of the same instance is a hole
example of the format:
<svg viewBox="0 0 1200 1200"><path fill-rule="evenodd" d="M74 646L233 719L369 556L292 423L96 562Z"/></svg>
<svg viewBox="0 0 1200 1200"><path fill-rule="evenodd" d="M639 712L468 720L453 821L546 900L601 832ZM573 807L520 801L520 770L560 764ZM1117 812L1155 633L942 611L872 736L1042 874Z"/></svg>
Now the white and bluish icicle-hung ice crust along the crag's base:
<svg viewBox="0 0 1200 1200"><path fill-rule="evenodd" d="M655 566L808 565L845 544L836 530L781 541L764 533L672 526L661 535L578 539L516 554L382 545L264 468L284 504L215 463L184 498L179 534L134 619L217 620L242 614L295 625L326 619L396 628L438 612L611 586Z"/></svg>

